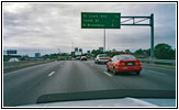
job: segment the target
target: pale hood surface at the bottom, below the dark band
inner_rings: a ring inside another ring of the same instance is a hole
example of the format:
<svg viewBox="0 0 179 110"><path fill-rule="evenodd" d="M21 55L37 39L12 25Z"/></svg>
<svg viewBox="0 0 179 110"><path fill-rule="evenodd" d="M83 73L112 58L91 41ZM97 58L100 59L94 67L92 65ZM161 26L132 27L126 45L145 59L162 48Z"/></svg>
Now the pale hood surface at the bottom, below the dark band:
<svg viewBox="0 0 179 110"><path fill-rule="evenodd" d="M137 99L137 98L119 98L119 99L98 99L98 100L79 100L25 105L19 107L176 107L176 99Z"/></svg>

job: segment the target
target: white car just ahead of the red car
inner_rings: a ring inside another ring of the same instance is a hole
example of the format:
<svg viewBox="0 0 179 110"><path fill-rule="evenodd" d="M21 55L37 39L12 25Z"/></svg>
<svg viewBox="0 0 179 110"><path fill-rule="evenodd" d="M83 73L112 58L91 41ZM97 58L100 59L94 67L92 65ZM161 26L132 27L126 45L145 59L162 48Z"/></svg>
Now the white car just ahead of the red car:
<svg viewBox="0 0 179 110"><path fill-rule="evenodd" d="M100 63L108 63L110 61L110 56L108 56L107 54L99 54L97 55L97 58L94 59L96 64L100 64Z"/></svg>

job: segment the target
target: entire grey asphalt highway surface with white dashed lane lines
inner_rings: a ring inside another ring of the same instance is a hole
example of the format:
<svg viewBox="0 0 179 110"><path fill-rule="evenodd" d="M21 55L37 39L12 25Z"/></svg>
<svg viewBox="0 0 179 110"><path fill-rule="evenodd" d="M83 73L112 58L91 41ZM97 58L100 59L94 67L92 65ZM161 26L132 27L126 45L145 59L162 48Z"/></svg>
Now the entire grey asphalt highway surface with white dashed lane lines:
<svg viewBox="0 0 179 110"><path fill-rule="evenodd" d="M42 95L108 89L176 89L176 69L143 65L113 75L93 61L59 61L3 74L3 106L32 105Z"/></svg>

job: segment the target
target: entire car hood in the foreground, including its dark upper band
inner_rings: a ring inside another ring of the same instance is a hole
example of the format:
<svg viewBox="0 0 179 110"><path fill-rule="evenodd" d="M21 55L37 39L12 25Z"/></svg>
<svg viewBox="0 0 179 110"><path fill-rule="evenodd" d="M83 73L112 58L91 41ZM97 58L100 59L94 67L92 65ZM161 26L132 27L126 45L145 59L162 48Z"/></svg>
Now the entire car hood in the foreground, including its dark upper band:
<svg viewBox="0 0 179 110"><path fill-rule="evenodd" d="M26 107L157 107L175 100L176 90L116 89L43 95Z"/></svg>

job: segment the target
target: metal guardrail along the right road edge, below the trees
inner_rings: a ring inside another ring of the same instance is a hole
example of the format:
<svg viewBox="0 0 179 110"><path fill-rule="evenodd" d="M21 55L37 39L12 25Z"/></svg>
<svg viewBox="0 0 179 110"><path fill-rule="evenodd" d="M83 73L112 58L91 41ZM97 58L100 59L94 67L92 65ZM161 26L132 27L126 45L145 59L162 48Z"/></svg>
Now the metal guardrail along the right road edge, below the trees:
<svg viewBox="0 0 179 110"><path fill-rule="evenodd" d="M175 59L153 59L153 58L138 58L141 62L145 62L145 63L164 63L164 64L171 64L171 65L176 65L176 61Z"/></svg>

